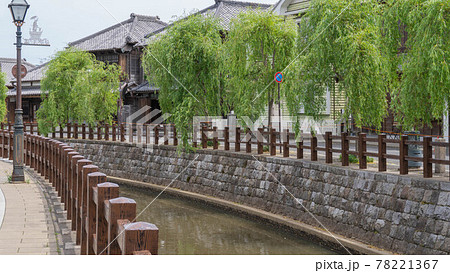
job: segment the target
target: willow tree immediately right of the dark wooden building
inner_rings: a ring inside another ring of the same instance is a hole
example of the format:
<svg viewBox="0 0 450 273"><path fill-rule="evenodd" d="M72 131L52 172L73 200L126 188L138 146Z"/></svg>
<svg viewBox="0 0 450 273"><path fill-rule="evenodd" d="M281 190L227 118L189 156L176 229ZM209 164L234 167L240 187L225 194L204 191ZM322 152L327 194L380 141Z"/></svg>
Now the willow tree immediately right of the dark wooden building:
<svg viewBox="0 0 450 273"><path fill-rule="evenodd" d="M191 15L151 37L143 65L159 90L162 112L171 114L183 147L195 116L222 116L222 28L209 16Z"/></svg>

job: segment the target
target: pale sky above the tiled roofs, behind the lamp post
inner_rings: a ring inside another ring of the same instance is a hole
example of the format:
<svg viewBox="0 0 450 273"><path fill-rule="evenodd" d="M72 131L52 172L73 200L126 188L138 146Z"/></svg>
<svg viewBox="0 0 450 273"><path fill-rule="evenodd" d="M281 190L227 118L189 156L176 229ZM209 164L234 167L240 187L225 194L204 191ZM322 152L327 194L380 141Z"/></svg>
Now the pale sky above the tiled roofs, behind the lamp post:
<svg viewBox="0 0 450 273"><path fill-rule="evenodd" d="M274 4L277 0L259 0ZM15 58L16 27L8 9L11 0L0 0L0 57ZM41 64L69 42L76 41L104 28L130 18L131 13L158 15L164 22L193 10L214 4L214 0L27 0L30 4L23 38L29 38L33 16L39 17L39 26L44 30L41 38L48 38L51 47L24 46L22 56L33 64Z"/></svg>

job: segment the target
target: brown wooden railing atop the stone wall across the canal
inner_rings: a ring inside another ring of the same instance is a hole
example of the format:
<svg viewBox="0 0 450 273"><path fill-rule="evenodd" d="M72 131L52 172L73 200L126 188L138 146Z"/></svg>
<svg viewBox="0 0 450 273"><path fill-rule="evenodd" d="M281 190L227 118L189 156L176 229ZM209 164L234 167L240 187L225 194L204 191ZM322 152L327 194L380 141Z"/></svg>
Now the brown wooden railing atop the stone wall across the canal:
<svg viewBox="0 0 450 273"><path fill-rule="evenodd" d="M1 125L7 127L7 125ZM11 126L11 125L10 125ZM37 132L37 124L26 124L27 132L30 134ZM12 128L12 127L9 127ZM233 132L232 132L233 131ZM234 137L230 137L230 135ZM421 141L410 141L408 135L401 135L400 139L388 139L385 134L377 136L367 136L365 133L359 133L357 136L349 136L347 133L341 135L332 135L326 132L324 140L319 145L318 138L307 135L296 138L295 134L289 130L277 132L275 128L259 128L258 133L251 132L249 128L229 128L225 127L219 130L217 127L203 126L200 129L200 137L194 135L192 145L197 148L206 149L211 146L212 149L231 150L234 144L234 151L254 154L264 154L268 151L271 156L282 155L283 157L295 157L304 159L304 152L309 151L310 160L318 161L318 154L322 153L325 162L333 163L333 155L338 154L342 166L349 166L349 156L358 158L360 169L367 169L367 158L375 157L378 159L378 171L387 171L387 160L398 162L398 170L402 175L408 174L408 161L421 162L423 164L423 177L433 177L433 164L450 166L450 160L444 157L433 157L433 151L436 148L449 148L447 142L433 142L431 136L423 136ZM66 124L62 130L55 130L52 138L73 138L73 139L91 139L130 142L137 144L154 145L174 145L178 146L178 136L176 128L173 125L139 125L139 124L114 124L101 125L95 128L89 128L82 124ZM335 147L336 143L340 147ZM351 146L355 147L353 150ZM376 151L367 151L367 146L376 147ZM398 148L396 154L388 153L387 146ZM408 155L408 146L416 145L423 154L420 157ZM278 149L279 148L279 149ZM278 150L280 152L278 152ZM293 154L292 154L293 153Z"/></svg>

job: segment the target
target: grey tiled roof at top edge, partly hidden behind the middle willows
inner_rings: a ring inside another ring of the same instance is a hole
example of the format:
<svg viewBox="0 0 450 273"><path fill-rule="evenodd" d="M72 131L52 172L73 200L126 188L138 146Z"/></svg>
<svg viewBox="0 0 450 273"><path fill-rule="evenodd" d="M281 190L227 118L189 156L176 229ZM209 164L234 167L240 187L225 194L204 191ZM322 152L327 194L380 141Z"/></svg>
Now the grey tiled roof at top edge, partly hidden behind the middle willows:
<svg viewBox="0 0 450 273"><path fill-rule="evenodd" d="M224 30L229 29L230 22L233 18L241 12L248 10L269 10L272 5L262 4L257 2L242 2L242 1L227 1L227 0L215 0L216 3L209 6L195 14L210 15L219 19L219 22ZM173 24L173 23L172 23ZM170 27L172 24L168 25ZM167 27L157 30L155 32L149 33L146 37L149 38L155 34L164 32Z"/></svg>

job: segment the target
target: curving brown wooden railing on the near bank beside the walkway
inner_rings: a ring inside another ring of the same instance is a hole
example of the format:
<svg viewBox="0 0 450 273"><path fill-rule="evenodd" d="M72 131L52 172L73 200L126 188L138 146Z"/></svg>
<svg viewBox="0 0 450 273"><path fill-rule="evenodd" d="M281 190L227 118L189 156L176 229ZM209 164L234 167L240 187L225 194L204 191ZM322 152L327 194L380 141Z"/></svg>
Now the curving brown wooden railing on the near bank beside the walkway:
<svg viewBox="0 0 450 273"><path fill-rule="evenodd" d="M158 254L158 228L134 222L134 200L119 197L119 186L69 145L29 132L24 164L48 179L61 197L82 255ZM0 130L0 145L0 157L12 159L13 131Z"/></svg>

